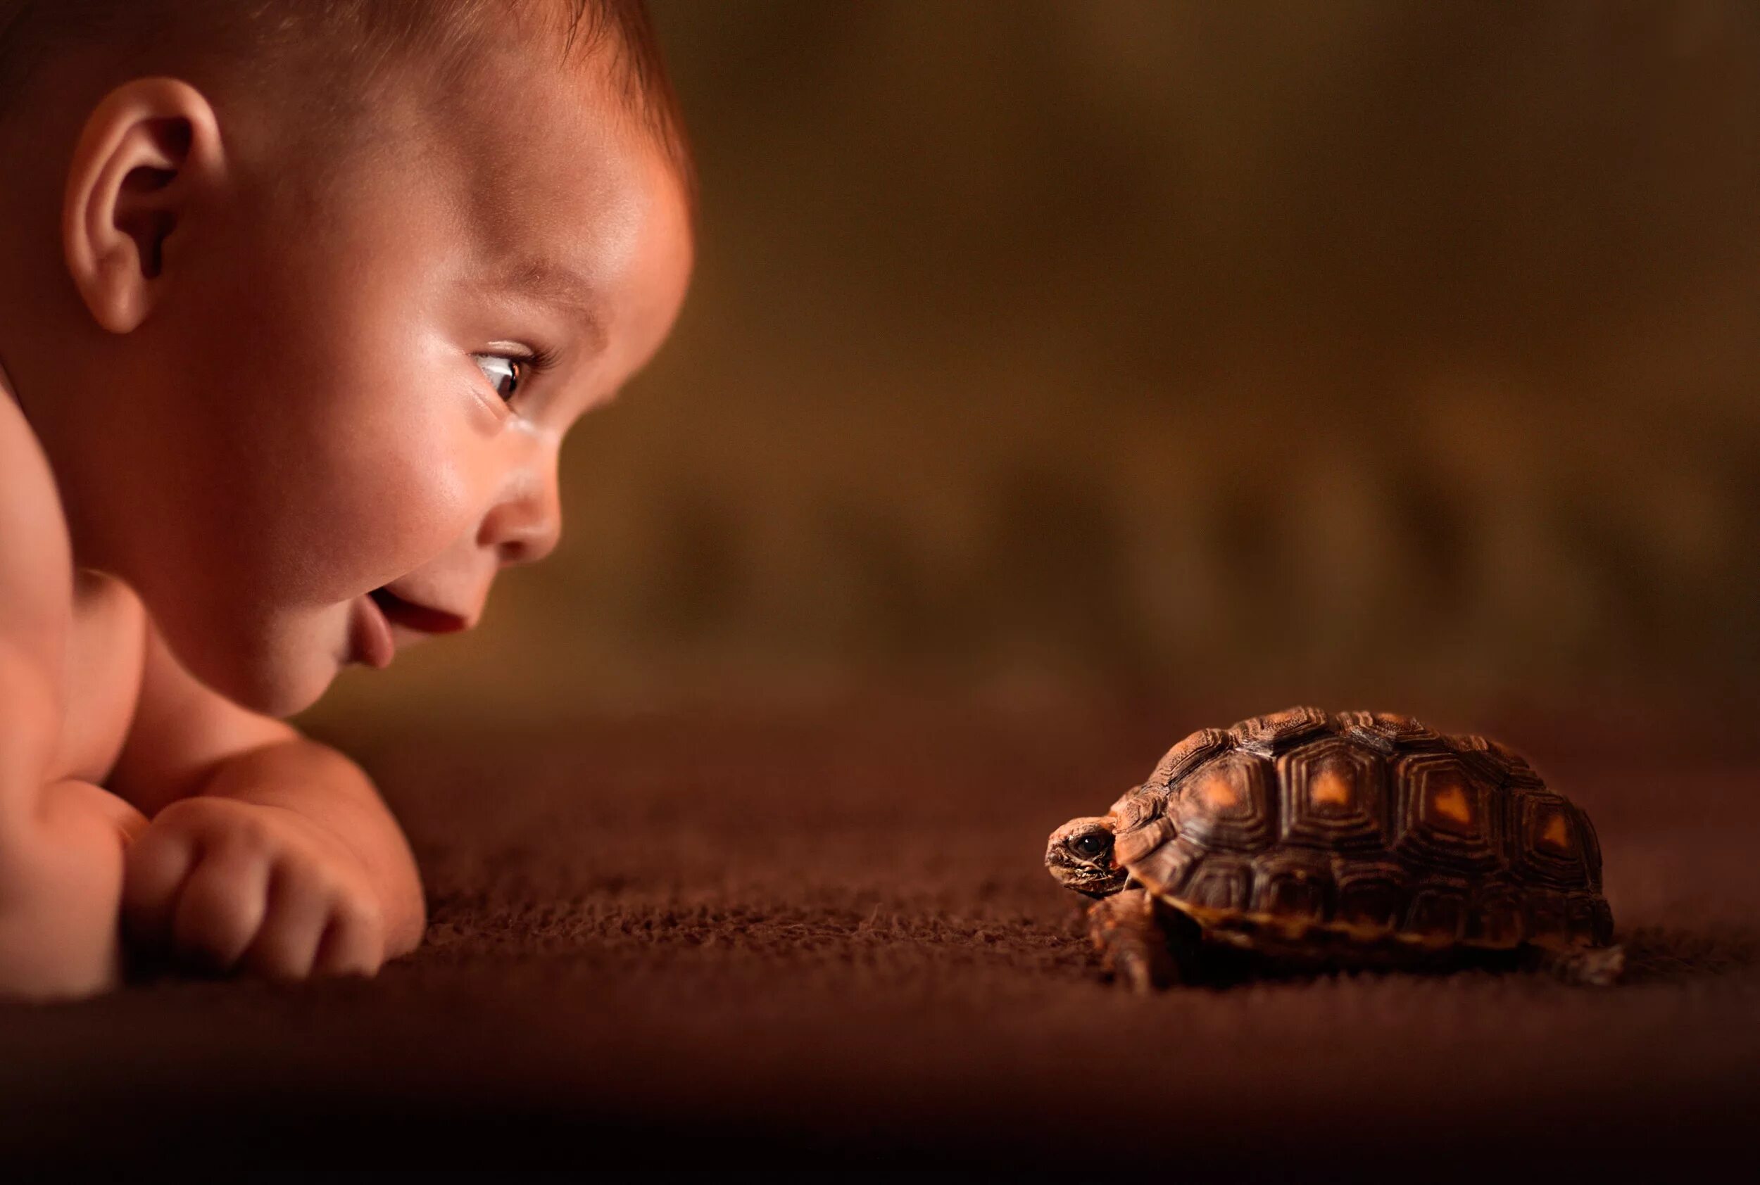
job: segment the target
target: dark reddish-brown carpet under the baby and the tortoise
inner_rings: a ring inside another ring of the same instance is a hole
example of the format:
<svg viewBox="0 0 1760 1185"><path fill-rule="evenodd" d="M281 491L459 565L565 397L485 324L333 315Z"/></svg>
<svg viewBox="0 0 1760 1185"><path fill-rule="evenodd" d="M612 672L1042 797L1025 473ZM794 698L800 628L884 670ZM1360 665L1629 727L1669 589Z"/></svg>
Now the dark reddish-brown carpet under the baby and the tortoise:
<svg viewBox="0 0 1760 1185"><path fill-rule="evenodd" d="M0 1006L0 1152L1174 1180L1751 1141L1760 763L1498 733L1600 826L1623 986L1132 999L1096 979L1044 837L1213 723L894 709L343 738L415 844L424 948L371 983Z"/></svg>

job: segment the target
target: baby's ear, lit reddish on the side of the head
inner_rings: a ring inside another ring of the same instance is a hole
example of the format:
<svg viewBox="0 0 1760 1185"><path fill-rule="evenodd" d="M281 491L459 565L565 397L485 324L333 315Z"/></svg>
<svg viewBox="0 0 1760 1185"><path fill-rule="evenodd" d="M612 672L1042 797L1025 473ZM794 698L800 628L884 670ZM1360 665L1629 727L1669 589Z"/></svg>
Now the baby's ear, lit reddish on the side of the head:
<svg viewBox="0 0 1760 1185"><path fill-rule="evenodd" d="M67 172L62 248L104 329L146 320L178 236L224 176L213 105L188 83L134 79L93 109Z"/></svg>

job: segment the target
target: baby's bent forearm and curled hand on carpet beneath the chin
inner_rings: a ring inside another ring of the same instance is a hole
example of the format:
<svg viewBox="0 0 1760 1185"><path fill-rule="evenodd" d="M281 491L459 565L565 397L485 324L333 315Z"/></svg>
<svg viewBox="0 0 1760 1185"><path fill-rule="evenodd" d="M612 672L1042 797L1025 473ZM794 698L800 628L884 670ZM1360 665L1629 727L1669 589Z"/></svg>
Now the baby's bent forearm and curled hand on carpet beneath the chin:
<svg viewBox="0 0 1760 1185"><path fill-rule="evenodd" d="M111 789L151 816L130 846L130 937L215 969L373 974L421 942L403 832L348 758L209 691L148 631Z"/></svg>

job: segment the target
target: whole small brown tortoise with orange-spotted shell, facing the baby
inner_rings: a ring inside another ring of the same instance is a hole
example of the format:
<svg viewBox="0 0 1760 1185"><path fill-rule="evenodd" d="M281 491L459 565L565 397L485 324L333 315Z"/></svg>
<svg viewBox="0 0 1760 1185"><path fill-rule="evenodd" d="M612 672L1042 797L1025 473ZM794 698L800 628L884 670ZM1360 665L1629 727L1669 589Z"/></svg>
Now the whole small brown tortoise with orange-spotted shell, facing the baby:
<svg viewBox="0 0 1760 1185"><path fill-rule="evenodd" d="M1624 962L1589 818L1498 742L1389 712L1195 731L1052 832L1045 867L1098 898L1089 934L1135 990L1463 965L1603 985Z"/></svg>

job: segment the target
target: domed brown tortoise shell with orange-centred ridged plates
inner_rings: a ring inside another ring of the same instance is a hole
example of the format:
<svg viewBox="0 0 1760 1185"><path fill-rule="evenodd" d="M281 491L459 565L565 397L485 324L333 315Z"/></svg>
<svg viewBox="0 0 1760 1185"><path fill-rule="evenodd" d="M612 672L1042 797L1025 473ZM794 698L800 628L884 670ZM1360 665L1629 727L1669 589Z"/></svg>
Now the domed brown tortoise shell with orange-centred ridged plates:
<svg viewBox="0 0 1760 1185"><path fill-rule="evenodd" d="M1239 946L1612 939L1589 818L1503 745L1406 716L1192 733L1109 819L1132 883Z"/></svg>

